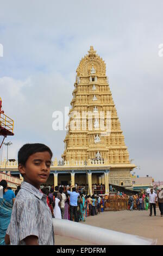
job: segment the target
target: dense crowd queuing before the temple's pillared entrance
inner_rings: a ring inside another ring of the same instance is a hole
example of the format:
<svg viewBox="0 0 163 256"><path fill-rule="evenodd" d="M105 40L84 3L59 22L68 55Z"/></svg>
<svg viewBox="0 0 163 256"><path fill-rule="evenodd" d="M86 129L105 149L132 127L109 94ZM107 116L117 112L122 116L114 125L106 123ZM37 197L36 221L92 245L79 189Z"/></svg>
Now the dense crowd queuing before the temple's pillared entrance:
<svg viewBox="0 0 163 256"><path fill-rule="evenodd" d="M82 184L81 184L82 185ZM72 187L72 192L70 188ZM82 192L80 188L83 188ZM47 196L47 204L52 217L71 221L85 221L86 217L95 216L104 210L104 198L98 194L87 195L84 185L78 186L46 186L41 184L40 190Z"/></svg>

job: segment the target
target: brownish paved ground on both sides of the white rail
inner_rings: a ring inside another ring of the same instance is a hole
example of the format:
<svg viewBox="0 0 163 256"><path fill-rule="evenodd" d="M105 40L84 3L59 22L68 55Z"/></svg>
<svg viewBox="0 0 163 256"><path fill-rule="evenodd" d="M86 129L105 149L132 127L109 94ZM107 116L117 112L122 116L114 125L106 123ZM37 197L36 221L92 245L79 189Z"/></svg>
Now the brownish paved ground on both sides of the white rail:
<svg viewBox="0 0 163 256"><path fill-rule="evenodd" d="M163 245L163 217L156 208L156 216L149 216L148 211L108 211L97 216L86 218L84 224L158 239L157 245ZM89 243L73 240L69 237L55 235L56 245L90 245Z"/></svg>

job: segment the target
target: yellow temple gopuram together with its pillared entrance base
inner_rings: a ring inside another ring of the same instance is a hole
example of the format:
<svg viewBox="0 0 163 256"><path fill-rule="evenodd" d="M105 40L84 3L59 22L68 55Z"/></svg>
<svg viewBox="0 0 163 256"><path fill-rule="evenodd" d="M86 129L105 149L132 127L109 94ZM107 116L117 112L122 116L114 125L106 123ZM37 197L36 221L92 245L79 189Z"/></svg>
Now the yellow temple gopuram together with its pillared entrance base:
<svg viewBox="0 0 163 256"><path fill-rule="evenodd" d="M76 72L62 162L55 158L47 184L87 184L89 194L92 184L104 184L105 194L109 184L131 188L130 171L136 166L129 161L106 65L93 46ZM7 169L18 175L14 164Z"/></svg>

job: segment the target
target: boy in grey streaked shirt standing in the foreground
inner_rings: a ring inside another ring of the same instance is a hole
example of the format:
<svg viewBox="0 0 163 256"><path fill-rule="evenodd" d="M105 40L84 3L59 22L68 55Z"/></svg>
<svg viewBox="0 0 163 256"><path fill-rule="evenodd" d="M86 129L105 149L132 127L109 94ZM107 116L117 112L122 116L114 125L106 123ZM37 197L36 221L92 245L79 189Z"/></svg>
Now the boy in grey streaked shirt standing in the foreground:
<svg viewBox="0 0 163 256"><path fill-rule="evenodd" d="M51 210L40 192L50 173L52 151L46 145L25 144L18 151L18 170L24 181L12 209L5 236L10 245L54 245Z"/></svg>

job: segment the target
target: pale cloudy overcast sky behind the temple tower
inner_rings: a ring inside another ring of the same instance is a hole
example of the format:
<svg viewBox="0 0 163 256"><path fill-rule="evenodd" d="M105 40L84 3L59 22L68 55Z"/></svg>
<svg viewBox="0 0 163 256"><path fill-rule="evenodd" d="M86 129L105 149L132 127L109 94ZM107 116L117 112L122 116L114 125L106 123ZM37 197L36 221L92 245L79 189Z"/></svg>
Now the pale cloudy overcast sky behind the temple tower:
<svg viewBox="0 0 163 256"><path fill-rule="evenodd" d="M135 173L163 180L162 0L0 0L0 7L0 96L15 121L9 159L35 142L61 159L66 132L52 130L52 113L70 106L77 66L93 45L106 63L130 159L140 166Z"/></svg>

